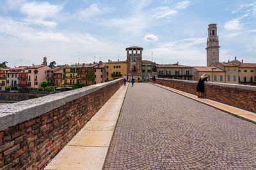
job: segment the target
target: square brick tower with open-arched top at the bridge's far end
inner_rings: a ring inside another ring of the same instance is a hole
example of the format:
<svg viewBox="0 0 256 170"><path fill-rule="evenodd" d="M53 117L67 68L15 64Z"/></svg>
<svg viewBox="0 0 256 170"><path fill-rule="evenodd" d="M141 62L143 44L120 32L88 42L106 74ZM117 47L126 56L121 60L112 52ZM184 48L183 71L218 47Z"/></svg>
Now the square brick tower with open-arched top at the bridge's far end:
<svg viewBox="0 0 256 170"><path fill-rule="evenodd" d="M140 76L141 78L142 50L143 48L138 46L131 46L126 48L128 76Z"/></svg>

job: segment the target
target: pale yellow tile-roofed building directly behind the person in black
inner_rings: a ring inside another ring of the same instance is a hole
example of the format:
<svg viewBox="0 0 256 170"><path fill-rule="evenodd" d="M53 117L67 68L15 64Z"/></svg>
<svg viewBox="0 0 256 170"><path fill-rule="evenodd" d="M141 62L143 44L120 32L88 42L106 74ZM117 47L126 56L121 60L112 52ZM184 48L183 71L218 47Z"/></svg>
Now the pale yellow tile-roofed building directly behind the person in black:
<svg viewBox="0 0 256 170"><path fill-rule="evenodd" d="M204 73L207 74L208 81L225 83L225 71L218 67L194 67L193 80L198 81Z"/></svg>

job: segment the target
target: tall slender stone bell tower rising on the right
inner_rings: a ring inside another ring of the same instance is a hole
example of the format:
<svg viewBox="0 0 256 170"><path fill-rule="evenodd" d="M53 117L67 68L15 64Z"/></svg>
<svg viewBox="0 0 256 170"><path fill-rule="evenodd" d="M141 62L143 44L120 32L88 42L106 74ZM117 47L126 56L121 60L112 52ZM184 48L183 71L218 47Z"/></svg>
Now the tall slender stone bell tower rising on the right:
<svg viewBox="0 0 256 170"><path fill-rule="evenodd" d="M207 38L207 67L214 62L219 62L219 38L217 36L217 24L208 25L208 38Z"/></svg>

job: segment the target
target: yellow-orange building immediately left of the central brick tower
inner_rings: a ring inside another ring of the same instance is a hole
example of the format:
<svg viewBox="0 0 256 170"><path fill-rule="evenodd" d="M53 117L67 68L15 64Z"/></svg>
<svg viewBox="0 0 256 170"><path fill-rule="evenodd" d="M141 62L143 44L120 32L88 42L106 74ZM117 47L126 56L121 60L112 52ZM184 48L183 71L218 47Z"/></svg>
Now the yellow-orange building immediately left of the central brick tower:
<svg viewBox="0 0 256 170"><path fill-rule="evenodd" d="M115 80L127 75L127 61L111 61L105 62L106 81Z"/></svg>

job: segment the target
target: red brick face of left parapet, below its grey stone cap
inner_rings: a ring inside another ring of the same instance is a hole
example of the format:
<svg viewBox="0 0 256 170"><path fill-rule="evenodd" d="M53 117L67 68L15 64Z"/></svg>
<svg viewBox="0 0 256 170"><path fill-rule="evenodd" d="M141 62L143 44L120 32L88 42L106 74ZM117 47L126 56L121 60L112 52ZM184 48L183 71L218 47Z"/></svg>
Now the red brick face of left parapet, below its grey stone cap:
<svg viewBox="0 0 256 170"><path fill-rule="evenodd" d="M0 169L43 169L115 94L122 80L0 132Z"/></svg>

